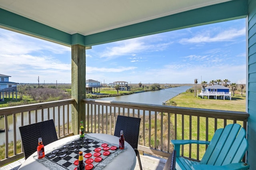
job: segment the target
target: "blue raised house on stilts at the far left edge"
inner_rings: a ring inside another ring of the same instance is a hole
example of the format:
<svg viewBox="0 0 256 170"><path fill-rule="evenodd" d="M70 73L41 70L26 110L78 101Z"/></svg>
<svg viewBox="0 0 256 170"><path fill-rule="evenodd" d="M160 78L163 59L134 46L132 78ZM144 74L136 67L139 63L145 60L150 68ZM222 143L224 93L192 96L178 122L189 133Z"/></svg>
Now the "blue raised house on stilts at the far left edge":
<svg viewBox="0 0 256 170"><path fill-rule="evenodd" d="M9 82L9 77L4 74L0 74L0 100L4 101L4 94L10 98L10 93L12 93L12 98L14 98L14 92L16 92L17 99L17 84L15 82ZM8 94L8 95L7 95Z"/></svg>

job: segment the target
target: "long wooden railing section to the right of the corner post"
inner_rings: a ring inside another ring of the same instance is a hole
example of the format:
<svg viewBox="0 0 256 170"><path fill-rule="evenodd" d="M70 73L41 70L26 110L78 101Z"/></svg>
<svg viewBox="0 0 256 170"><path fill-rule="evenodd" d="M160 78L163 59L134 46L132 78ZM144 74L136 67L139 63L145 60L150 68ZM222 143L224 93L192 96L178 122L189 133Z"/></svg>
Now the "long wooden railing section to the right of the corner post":
<svg viewBox="0 0 256 170"><path fill-rule="evenodd" d="M215 130L230 123L246 129L248 114L222 110L184 108L130 102L84 99L86 130L114 134L117 115L141 118L138 150L168 157L172 139L211 140ZM200 160L206 146L190 144L181 148L182 156ZM202 152L202 153L201 153Z"/></svg>

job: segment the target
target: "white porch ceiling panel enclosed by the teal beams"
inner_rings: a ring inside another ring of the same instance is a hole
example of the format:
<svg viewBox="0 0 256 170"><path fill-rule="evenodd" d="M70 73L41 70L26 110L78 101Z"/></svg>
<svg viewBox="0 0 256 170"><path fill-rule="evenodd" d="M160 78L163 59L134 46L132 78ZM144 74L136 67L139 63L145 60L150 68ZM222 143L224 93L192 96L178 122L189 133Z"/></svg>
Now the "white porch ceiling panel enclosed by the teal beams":
<svg viewBox="0 0 256 170"><path fill-rule="evenodd" d="M230 0L0 0L0 8L84 36Z"/></svg>

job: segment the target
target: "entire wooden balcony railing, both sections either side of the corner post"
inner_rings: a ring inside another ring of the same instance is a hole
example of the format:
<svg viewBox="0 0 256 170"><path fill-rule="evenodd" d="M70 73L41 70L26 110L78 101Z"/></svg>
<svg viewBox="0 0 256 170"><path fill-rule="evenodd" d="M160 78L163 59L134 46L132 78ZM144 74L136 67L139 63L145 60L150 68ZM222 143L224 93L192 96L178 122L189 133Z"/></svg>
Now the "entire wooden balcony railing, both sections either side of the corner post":
<svg viewBox="0 0 256 170"><path fill-rule="evenodd" d="M17 151L19 126L54 119L58 137L71 131L71 104L73 99L55 102L44 102L23 106L0 108L0 116L4 116L5 143L13 138L13 146L5 147L5 158L0 166L23 157L22 150ZM141 118L140 139L138 149L142 153L169 156L173 147L172 139L211 140L214 131L230 123L239 123L246 129L248 114L221 110L182 108L130 102L84 99L86 104L85 130L92 133L114 134L117 115ZM69 123L68 123L69 122ZM64 125L64 126L63 126ZM13 132L11 132L13 129ZM181 154L191 159L200 160L205 146L184 146ZM11 153L10 150L13 150Z"/></svg>

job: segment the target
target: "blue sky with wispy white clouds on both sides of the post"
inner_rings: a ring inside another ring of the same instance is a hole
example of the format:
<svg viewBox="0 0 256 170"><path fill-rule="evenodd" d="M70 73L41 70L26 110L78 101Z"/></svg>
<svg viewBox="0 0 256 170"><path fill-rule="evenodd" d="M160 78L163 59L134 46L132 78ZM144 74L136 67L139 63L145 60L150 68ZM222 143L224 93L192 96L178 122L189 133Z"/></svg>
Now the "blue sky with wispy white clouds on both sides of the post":
<svg viewBox="0 0 256 170"><path fill-rule="evenodd" d="M131 84L246 83L246 20L92 46L86 80ZM0 28L0 74L17 83L71 83L71 48Z"/></svg>

